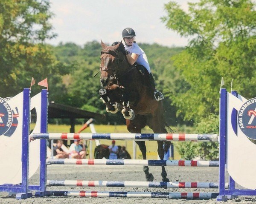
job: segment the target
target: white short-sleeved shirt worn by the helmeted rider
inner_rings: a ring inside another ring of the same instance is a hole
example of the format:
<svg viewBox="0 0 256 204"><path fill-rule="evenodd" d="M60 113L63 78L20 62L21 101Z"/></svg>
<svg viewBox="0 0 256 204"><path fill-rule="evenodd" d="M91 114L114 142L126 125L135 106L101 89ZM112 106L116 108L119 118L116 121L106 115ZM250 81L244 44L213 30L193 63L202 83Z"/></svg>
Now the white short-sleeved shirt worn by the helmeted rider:
<svg viewBox="0 0 256 204"><path fill-rule="evenodd" d="M139 55L139 57L138 57L138 59L136 61L137 64L138 65L143 65L148 70L148 73L150 74L151 70L150 70L150 67L149 67L149 64L148 64L148 58L147 58L145 52L143 51L143 49L140 48L137 43L132 43L131 46L127 46L124 43L124 46L125 46L125 49L128 50L128 52L130 54L134 53L134 54L138 54Z"/></svg>

